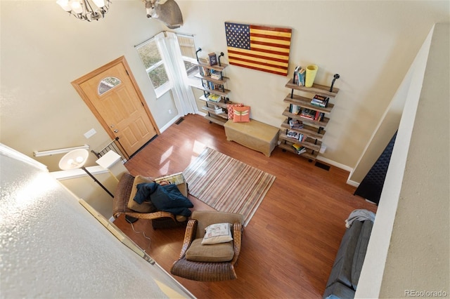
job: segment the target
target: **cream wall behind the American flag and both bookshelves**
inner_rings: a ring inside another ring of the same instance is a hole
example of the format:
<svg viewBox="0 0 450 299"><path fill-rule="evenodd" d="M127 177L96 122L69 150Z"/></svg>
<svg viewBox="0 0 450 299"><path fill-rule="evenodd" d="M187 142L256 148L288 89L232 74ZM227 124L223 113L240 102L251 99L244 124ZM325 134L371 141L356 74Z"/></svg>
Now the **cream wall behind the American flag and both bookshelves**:
<svg viewBox="0 0 450 299"><path fill-rule="evenodd" d="M333 74L340 74L335 84L340 93L326 128L323 157L347 168L359 160L432 25L449 20L448 1L179 4L185 20L181 30L195 34L195 46L203 49L200 55L223 51L222 61L228 61L226 21L291 27L291 72L295 65L315 63L319 65L316 83L326 85ZM226 76L232 101L250 105L253 119L277 127L281 124L288 77L233 65L226 69Z"/></svg>

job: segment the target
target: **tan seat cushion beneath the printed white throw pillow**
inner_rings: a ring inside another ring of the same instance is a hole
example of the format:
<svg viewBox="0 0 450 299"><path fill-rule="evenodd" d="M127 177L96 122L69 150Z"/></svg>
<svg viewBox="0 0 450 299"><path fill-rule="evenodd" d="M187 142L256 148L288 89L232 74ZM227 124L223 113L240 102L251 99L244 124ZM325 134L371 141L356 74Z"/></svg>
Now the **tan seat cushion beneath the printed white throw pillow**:
<svg viewBox="0 0 450 299"><path fill-rule="evenodd" d="M202 245L203 239L195 239L186 251L186 260L195 262L229 262L233 259L233 242Z"/></svg>

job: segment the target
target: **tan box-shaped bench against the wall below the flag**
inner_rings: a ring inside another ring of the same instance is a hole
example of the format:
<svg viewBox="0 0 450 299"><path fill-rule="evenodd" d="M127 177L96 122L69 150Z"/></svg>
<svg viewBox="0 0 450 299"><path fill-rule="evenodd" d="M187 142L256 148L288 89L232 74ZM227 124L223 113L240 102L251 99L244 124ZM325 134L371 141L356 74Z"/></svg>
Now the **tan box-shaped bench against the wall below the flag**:
<svg viewBox="0 0 450 299"><path fill-rule="evenodd" d="M270 157L278 142L279 129L260 121L250 119L248 123L235 123L233 120L224 124L226 140L238 142L252 150L262 152Z"/></svg>

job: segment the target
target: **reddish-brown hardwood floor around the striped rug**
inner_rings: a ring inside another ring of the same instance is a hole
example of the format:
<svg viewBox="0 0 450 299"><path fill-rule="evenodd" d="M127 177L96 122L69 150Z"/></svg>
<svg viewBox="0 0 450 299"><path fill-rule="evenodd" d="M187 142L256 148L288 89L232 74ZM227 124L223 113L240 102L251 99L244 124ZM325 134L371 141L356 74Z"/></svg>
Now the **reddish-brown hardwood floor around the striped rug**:
<svg viewBox="0 0 450 299"><path fill-rule="evenodd" d="M276 176L243 232L236 265L238 279L205 283L175 277L197 298L321 298L345 232L345 219L356 208L376 206L353 195L349 173L329 171L307 159L282 152L271 157L226 140L224 128L188 115L155 138L125 166L133 175L157 176L183 171L204 147L229 155ZM191 197L195 209L209 208ZM150 222L115 220L136 244L169 272L179 257L184 228L153 230Z"/></svg>

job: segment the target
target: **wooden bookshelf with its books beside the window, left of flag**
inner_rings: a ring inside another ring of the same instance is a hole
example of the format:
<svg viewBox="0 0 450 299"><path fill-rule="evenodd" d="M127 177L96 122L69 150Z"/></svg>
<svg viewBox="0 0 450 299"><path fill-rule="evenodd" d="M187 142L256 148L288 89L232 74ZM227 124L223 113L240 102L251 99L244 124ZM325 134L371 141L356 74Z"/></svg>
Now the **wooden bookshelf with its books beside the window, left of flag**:
<svg viewBox="0 0 450 299"><path fill-rule="evenodd" d="M229 78L224 77L224 69L228 66L222 63L221 65L209 65L207 62L195 62L198 66L198 74L195 78L200 79L199 84L193 86L203 91L203 95L199 100L205 102L202 109L207 113L205 118L210 123L224 126L228 120L227 105L231 104L228 96L231 92L225 88L226 82Z"/></svg>

